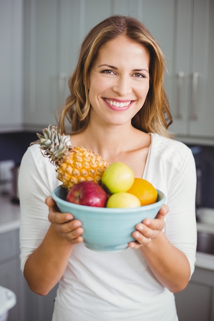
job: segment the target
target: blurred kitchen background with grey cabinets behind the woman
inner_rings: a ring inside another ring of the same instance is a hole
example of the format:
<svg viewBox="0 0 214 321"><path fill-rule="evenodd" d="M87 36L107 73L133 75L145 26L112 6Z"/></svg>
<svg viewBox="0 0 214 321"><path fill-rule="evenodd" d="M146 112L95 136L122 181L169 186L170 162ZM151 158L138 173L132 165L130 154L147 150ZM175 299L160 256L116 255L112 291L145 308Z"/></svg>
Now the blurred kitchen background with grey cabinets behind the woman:
<svg viewBox="0 0 214 321"><path fill-rule="evenodd" d="M55 295L32 294L20 272L22 156L36 132L55 124L85 34L112 14L141 19L159 42L170 131L196 160L197 208L214 211L214 0L0 0L0 286L17 300L9 321L51 320ZM190 285L176 296L180 321L214 320L214 252L204 252Z"/></svg>

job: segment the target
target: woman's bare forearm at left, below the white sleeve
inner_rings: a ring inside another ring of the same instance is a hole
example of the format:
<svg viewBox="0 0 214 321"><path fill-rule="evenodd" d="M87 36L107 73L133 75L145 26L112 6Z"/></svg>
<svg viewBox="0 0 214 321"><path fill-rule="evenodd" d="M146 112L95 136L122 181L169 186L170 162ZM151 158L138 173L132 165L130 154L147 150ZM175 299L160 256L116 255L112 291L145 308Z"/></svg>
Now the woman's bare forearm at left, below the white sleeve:
<svg viewBox="0 0 214 321"><path fill-rule="evenodd" d="M25 264L24 276L33 292L46 295L59 282L73 246L50 225L43 242Z"/></svg>

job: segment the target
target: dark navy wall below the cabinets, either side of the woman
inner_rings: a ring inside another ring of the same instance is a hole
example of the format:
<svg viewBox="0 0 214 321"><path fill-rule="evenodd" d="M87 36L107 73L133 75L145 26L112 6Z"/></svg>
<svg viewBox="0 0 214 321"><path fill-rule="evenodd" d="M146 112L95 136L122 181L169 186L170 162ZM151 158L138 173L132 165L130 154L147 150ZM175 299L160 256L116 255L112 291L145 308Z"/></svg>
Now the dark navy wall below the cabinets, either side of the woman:
<svg viewBox="0 0 214 321"><path fill-rule="evenodd" d="M37 136L32 132L17 132L0 134L0 161L12 159L20 164L23 154ZM189 145L196 165L201 170L201 199L199 205L214 208L214 147Z"/></svg>

